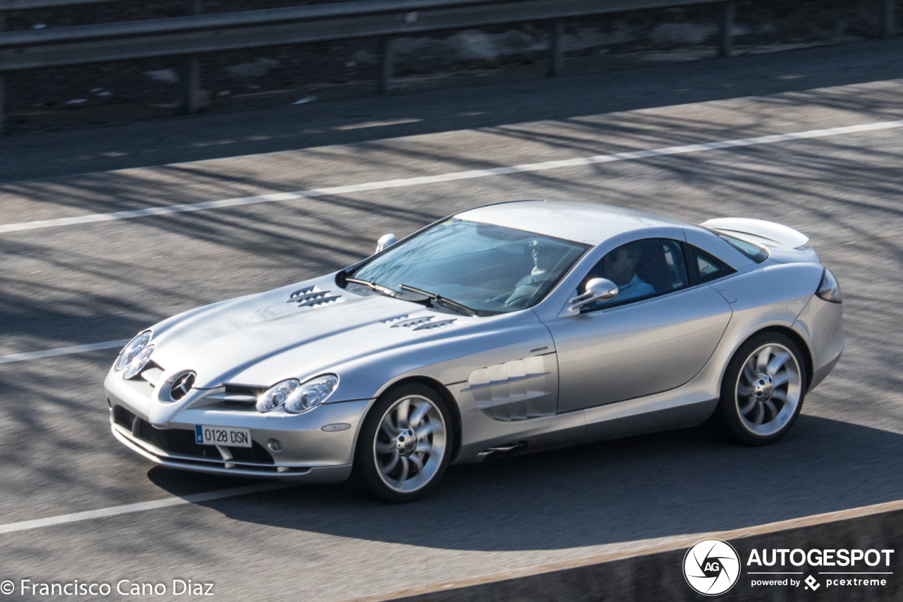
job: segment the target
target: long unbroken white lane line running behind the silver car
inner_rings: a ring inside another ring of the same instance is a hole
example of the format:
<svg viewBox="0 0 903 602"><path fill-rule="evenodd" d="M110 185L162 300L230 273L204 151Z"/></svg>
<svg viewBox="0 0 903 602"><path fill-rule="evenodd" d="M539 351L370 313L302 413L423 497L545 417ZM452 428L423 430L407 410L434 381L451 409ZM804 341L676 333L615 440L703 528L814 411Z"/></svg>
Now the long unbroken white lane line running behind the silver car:
<svg viewBox="0 0 903 602"><path fill-rule="evenodd" d="M437 184L455 180L471 180L474 178L486 178L489 176L507 175L511 173L526 173L528 171L557 170L564 167L577 167L581 165L593 165L616 161L633 161L659 157L670 154L701 153L723 148L735 148L739 146L753 146L756 144L775 144L789 140L803 140L807 138L824 138L840 134L857 134L861 132L873 132L876 130L889 130L903 127L903 120L885 121L877 124L847 125L844 127L832 127L825 130L808 130L806 132L794 132L791 134L773 134L759 136L757 138L740 138L739 140L724 140L706 144L686 144L684 146L668 146L647 151L634 151L631 153L598 154L591 157L579 157L576 159L564 159L561 161L546 161L541 163L524 163L510 167L495 167L488 170L452 171L434 176L420 176L417 178L402 178L398 180L384 180L365 182L363 184L349 184L347 186L333 186L330 188L318 188L312 190L299 190L297 192L279 192L275 194L262 194L256 197L244 197L240 199L209 200L200 203L184 205L170 205L167 207L149 207L133 209L129 211L116 211L114 213L94 213L73 218L42 219L18 224L0 225L0 234L5 232L21 232L23 230L36 230L45 227L74 226L76 224L90 224L93 222L112 221L116 219L144 218L147 216L162 216L172 213L184 213L187 211L203 211L206 209L218 209L238 207L242 205L254 205L278 200L312 199L333 194L351 194L368 190L384 190L390 188L403 188L405 186L419 186L422 184Z"/></svg>

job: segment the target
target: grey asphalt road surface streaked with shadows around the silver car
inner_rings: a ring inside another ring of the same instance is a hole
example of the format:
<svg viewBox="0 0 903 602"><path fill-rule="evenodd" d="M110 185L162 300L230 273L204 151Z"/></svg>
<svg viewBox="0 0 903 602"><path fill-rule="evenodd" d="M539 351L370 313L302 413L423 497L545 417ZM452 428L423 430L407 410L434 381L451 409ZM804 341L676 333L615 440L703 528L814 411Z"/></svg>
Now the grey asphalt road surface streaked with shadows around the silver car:
<svg viewBox="0 0 903 602"><path fill-rule="evenodd" d="M234 114L200 118L194 143L183 120L13 136L0 224L896 121L900 55L903 44L875 43L535 82L527 94L393 97L354 118L353 103L337 103L317 109L323 124L366 126L324 134L294 132L285 114ZM479 107L490 121L452 118ZM422 119L401 125L411 131L380 125L405 111ZM209 150L249 123L292 133ZM192 579L223 600L342 600L903 498L901 159L895 128L6 232L0 357L129 338L350 264L386 232L509 199L796 227L842 283L847 347L777 446L675 431L453 467L414 505L296 486L6 533L0 580ZM172 161L193 162L141 167ZM113 440L102 381L115 356L0 364L0 523L247 483L153 468Z"/></svg>

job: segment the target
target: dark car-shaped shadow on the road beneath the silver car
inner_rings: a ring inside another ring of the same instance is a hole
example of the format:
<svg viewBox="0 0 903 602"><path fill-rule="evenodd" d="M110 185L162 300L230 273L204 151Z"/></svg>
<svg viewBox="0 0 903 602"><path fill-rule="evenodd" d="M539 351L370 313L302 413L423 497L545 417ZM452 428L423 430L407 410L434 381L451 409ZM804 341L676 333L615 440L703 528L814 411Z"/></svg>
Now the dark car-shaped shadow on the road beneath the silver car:
<svg viewBox="0 0 903 602"><path fill-rule="evenodd" d="M903 435L801 416L785 440L766 448L736 446L697 428L456 466L435 495L407 505L371 502L344 485L296 486L203 505L237 521L353 539L556 550L897 500L903 498L901 461ZM164 468L148 477L174 494L188 485ZM199 479L191 477L192 488Z"/></svg>

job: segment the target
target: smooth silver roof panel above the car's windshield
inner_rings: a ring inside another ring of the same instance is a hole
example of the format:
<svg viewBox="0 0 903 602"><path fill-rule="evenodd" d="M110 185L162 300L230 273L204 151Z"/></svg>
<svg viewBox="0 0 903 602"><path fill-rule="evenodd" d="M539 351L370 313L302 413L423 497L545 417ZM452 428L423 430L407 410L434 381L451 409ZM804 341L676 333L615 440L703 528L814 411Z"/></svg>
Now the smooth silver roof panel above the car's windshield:
<svg viewBox="0 0 903 602"><path fill-rule="evenodd" d="M611 236L649 227L688 226L675 219L633 209L551 200L498 203L462 211L454 217L591 245L598 245Z"/></svg>

